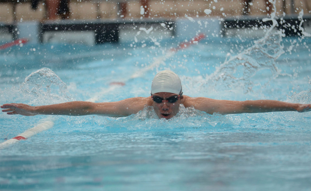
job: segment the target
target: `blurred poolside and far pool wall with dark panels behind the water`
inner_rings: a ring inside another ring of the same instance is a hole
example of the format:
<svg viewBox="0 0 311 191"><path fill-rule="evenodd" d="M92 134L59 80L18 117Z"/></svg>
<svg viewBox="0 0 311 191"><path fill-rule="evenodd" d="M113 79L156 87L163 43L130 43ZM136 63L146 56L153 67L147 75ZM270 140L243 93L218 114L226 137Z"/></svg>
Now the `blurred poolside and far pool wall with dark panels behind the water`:
<svg viewBox="0 0 311 191"><path fill-rule="evenodd" d="M286 36L299 36L301 28L311 31L310 4L305 0L0 0L0 50L21 43L128 41L140 30L149 40L152 30L161 31L161 38L183 40L199 33L208 38L256 39L272 25L262 20L269 17L277 20L276 29Z"/></svg>

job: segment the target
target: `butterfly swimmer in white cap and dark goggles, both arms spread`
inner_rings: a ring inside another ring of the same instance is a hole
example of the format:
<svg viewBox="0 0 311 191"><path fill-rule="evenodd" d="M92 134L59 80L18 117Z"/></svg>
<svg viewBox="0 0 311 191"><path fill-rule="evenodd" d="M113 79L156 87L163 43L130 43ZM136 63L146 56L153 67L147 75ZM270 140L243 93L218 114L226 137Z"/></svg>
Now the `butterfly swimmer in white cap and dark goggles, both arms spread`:
<svg viewBox="0 0 311 191"><path fill-rule="evenodd" d="M208 114L261 113L272 111L311 111L311 104L281 102L276 100L230 101L183 95L179 77L165 70L156 74L151 84L151 96L127 98L117 102L73 101L45 106L29 106L22 103L3 104L8 115L104 115L124 117L136 114L146 106L152 106L159 118L170 119L179 112L180 104L194 107Z"/></svg>

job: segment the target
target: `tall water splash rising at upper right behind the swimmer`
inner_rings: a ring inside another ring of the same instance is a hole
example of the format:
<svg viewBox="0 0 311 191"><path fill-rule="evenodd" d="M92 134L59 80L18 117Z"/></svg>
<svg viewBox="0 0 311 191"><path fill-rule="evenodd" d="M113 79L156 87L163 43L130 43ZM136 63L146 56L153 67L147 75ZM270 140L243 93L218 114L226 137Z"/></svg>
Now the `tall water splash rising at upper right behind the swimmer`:
<svg viewBox="0 0 311 191"><path fill-rule="evenodd" d="M275 1L273 3L274 10ZM252 91L253 82L251 77L261 69L268 68L272 72L273 77L277 77L280 71L276 67L276 59L278 59L285 51L281 44L282 37L285 35L281 30L275 31L278 25L275 18L275 12L270 18L262 19L263 22L272 21L272 26L267 28L264 37L254 41L253 46L245 49L241 53L226 59L216 71L207 76L206 84L209 88L217 90L226 89L243 89L244 93Z"/></svg>

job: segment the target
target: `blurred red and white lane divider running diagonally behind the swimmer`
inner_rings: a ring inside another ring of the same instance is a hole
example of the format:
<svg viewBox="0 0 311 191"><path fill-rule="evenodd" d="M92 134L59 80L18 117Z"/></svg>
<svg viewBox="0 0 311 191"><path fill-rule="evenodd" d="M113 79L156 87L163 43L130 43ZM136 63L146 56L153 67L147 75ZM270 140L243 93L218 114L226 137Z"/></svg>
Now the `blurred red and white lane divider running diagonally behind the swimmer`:
<svg viewBox="0 0 311 191"><path fill-rule="evenodd" d="M198 35L196 35L195 37L193 37L190 41L188 42L181 42L179 43L179 45L176 48L171 48L170 50L167 51L167 53L163 56L160 56L158 58L155 59L154 62L152 62L149 66L146 66L140 70L135 71L132 76L123 79L122 81L114 81L111 82L109 85L109 88L105 88L102 89L100 92L95 93L95 95L93 95L92 98L86 100L88 102L98 102L101 100L102 96L106 93L110 93L112 91L114 91L115 89L124 86L128 80L140 77L142 75L144 75L146 73L146 71L153 69L156 66L160 66L161 64L165 64L165 60L172 57L176 52L178 52L179 50L182 49L186 49L189 48L190 46L197 44L199 41L201 41L202 39L204 39L206 36L203 33L200 33Z"/></svg>

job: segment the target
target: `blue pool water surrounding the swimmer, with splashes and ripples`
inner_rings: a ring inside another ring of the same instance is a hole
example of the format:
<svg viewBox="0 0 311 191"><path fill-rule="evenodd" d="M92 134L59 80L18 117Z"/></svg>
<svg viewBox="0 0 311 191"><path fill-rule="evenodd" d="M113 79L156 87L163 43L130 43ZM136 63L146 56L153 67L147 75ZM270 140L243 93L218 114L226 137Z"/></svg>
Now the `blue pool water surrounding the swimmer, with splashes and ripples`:
<svg viewBox="0 0 311 191"><path fill-rule="evenodd" d="M136 47L130 46L132 42L26 44L2 50L1 104L147 97L153 76L164 69L180 76L188 96L311 102L310 38L207 38L167 55L180 40L143 47L139 42ZM131 78L133 74L137 76ZM0 117L1 142L43 121L55 123L1 150L1 190L311 186L311 112L208 115L181 107L169 120L156 119L151 108L123 118L4 113Z"/></svg>

